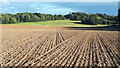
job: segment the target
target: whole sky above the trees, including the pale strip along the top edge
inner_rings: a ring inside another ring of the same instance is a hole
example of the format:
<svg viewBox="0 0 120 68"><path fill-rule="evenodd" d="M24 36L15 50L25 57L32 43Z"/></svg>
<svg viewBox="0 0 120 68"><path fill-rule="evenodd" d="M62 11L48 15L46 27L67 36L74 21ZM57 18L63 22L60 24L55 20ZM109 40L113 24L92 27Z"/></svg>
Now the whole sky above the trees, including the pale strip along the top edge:
<svg viewBox="0 0 120 68"><path fill-rule="evenodd" d="M23 2L23 3L15 3L15 2ZM34 2L38 2L38 3L34 3ZM40 3L40 2L48 2L48 3ZM70 5L69 3L58 4L52 2L71 2L74 5ZM73 2L78 2L78 4ZM87 2L87 3L103 2L103 3L91 3L91 4L82 5L82 3L79 2ZM111 2L111 3L106 3L106 2ZM117 2L119 2L119 0L0 0L0 13L40 12L40 13L48 13L48 14L67 14L69 12L85 12L85 13L98 12L98 13L106 13L109 15L117 15L117 10L118 8L120 8Z"/></svg>

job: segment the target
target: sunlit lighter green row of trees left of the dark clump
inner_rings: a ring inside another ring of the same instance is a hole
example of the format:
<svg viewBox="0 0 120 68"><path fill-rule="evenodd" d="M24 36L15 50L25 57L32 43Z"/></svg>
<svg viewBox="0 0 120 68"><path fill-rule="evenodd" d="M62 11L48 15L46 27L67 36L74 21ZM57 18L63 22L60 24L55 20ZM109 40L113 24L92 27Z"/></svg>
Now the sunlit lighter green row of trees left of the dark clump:
<svg viewBox="0 0 120 68"><path fill-rule="evenodd" d="M51 14L41 14L41 13L1 14L1 16L2 16L1 17L2 24L65 19L63 15L51 15Z"/></svg>

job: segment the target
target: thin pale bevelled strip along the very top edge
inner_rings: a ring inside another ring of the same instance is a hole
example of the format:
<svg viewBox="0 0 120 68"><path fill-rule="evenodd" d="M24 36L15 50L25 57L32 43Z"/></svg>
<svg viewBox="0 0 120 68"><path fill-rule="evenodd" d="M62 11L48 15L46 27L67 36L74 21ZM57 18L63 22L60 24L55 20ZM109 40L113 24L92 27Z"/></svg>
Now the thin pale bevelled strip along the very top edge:
<svg viewBox="0 0 120 68"><path fill-rule="evenodd" d="M119 2L119 0L0 0L0 2Z"/></svg>

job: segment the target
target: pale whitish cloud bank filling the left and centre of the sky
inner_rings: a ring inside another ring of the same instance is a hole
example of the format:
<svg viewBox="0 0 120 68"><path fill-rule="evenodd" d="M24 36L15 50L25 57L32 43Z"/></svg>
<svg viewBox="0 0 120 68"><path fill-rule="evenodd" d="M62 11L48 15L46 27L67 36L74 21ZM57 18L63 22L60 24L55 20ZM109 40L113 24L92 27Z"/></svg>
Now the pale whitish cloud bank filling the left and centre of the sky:
<svg viewBox="0 0 120 68"><path fill-rule="evenodd" d="M39 12L46 14L68 14L74 9L47 2L10 2L3 5L3 13Z"/></svg>

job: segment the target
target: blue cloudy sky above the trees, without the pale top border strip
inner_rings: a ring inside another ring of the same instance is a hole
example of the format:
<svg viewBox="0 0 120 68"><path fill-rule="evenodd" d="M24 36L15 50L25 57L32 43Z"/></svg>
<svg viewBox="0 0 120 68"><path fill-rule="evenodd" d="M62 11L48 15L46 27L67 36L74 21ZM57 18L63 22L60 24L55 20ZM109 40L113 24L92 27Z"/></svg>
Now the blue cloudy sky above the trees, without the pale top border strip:
<svg viewBox="0 0 120 68"><path fill-rule="evenodd" d="M117 2L6 2L0 13L68 14L70 12L117 15Z"/></svg>

